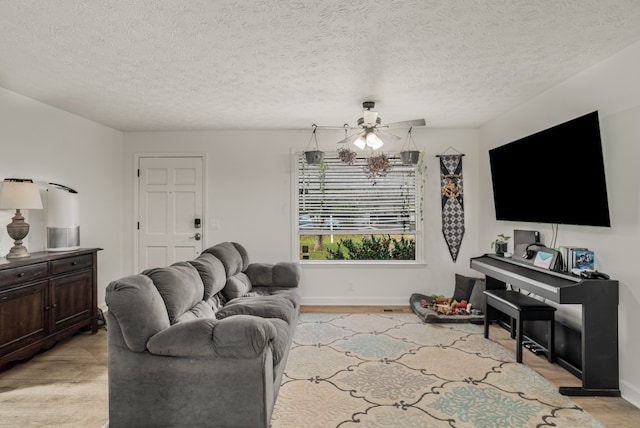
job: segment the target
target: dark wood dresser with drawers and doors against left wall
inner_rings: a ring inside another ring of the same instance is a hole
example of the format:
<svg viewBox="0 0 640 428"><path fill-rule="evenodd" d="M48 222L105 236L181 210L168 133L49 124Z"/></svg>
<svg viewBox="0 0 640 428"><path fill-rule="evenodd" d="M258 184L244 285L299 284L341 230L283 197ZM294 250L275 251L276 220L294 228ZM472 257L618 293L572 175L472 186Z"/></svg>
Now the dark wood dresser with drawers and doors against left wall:
<svg viewBox="0 0 640 428"><path fill-rule="evenodd" d="M0 366L52 347L83 327L98 331L98 251L0 258Z"/></svg>

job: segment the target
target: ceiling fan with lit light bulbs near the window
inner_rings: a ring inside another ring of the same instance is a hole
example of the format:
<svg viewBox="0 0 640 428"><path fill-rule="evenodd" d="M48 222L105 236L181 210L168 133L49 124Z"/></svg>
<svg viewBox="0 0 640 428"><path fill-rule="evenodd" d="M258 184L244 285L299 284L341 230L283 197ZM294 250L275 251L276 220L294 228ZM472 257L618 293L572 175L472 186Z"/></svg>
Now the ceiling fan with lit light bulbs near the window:
<svg viewBox="0 0 640 428"><path fill-rule="evenodd" d="M358 125L355 127L351 127L348 124L344 124L342 127L336 126L327 126L318 128L325 129L344 129L345 135L347 130L349 129L357 129L359 132L349 135L344 139L338 141L338 144L347 144L353 143L360 150L363 150L365 147L371 147L372 150L377 150L384 145L384 139L393 139L399 140L400 137L394 135L390 132L385 132L382 129L393 129L393 128L413 128L414 126L425 126L426 122L424 119L415 119L415 120L405 120L402 122L393 122L382 124L382 120L378 115L377 111L373 111L376 103L374 101L365 101L362 103L362 117L358 119Z"/></svg>

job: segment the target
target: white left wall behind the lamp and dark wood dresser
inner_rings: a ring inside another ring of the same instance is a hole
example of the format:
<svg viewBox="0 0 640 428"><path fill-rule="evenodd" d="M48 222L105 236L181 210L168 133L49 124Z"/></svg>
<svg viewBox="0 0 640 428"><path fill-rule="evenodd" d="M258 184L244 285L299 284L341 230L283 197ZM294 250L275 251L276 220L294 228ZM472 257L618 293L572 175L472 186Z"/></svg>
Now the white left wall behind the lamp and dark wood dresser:
<svg viewBox="0 0 640 428"><path fill-rule="evenodd" d="M0 88L0 179L31 178L78 191L80 244L98 253L98 304L122 275L122 133ZM46 202L44 190L41 191ZM0 211L0 255L13 245ZM46 247L44 210L26 212L30 252Z"/></svg>

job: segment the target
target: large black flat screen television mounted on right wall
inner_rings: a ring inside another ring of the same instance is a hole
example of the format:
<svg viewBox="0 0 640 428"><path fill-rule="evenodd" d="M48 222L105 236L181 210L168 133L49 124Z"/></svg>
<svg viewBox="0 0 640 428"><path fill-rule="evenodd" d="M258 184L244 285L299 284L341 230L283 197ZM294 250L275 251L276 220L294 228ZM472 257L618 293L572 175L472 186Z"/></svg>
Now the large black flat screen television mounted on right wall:
<svg viewBox="0 0 640 428"><path fill-rule="evenodd" d="M610 227L598 112L489 150L497 220Z"/></svg>

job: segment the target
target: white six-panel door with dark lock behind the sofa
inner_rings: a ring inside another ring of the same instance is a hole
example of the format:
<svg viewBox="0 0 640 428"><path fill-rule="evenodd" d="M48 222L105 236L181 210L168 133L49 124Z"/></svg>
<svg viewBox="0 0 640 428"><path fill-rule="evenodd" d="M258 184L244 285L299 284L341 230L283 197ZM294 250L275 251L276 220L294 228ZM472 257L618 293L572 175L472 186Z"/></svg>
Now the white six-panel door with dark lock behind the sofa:
<svg viewBox="0 0 640 428"><path fill-rule="evenodd" d="M202 252L202 170L201 157L139 158L138 270Z"/></svg>

